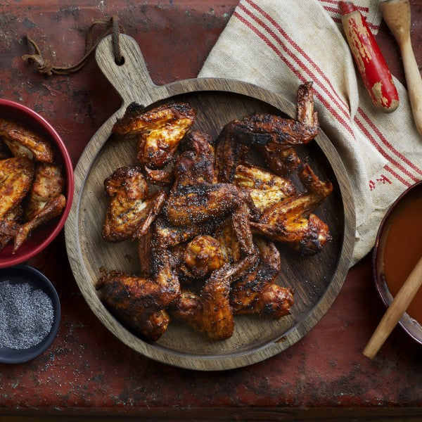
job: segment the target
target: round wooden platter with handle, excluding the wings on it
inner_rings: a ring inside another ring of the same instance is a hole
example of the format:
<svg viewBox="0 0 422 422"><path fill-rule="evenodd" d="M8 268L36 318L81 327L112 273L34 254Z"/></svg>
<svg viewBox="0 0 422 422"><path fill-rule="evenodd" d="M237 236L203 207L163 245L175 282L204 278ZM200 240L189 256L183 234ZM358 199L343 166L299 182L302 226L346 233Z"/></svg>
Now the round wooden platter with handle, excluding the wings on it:
<svg viewBox="0 0 422 422"><path fill-rule="evenodd" d="M151 81L138 44L120 35L124 64L116 65L111 38L101 41L96 60L122 96L122 108L98 129L75 170L75 198L65 226L73 274L89 307L123 343L147 357L188 369L214 371L260 362L286 350L302 338L328 310L350 265L354 244L354 206L345 168L326 135L301 148L314 171L334 184L333 193L316 210L330 226L333 241L318 255L300 257L280 245L282 270L278 282L295 288L293 313L282 319L236 316L234 335L213 342L203 333L177 321L157 343L146 343L124 328L101 302L94 285L100 269L139 272L136 243L106 243L101 229L108 199L103 181L117 167L136 164L136 141L110 136L117 117L129 103L144 106L184 101L196 109L193 129L214 138L224 124L252 112L295 117L295 105L273 92L229 79L188 79L157 87ZM110 139L109 139L110 138Z"/></svg>

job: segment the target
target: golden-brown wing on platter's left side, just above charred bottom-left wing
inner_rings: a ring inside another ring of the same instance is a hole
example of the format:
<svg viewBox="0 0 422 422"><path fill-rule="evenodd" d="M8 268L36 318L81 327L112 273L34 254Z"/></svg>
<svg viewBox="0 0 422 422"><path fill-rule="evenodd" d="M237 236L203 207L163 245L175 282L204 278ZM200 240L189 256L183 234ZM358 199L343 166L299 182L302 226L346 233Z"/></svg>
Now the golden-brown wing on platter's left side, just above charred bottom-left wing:
<svg viewBox="0 0 422 422"><path fill-rule="evenodd" d="M120 242L146 233L165 201L163 191L148 198L141 167L120 167L104 181L110 204L103 224L103 238Z"/></svg>

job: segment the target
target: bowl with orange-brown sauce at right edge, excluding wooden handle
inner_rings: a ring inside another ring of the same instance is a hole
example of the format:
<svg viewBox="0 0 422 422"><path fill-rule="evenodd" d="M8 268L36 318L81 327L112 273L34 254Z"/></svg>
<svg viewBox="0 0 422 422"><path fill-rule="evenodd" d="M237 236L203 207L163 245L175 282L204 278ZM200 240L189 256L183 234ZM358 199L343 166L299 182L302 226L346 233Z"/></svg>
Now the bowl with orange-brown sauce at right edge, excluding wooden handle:
<svg viewBox="0 0 422 422"><path fill-rule="evenodd" d="M404 191L388 210L373 250L376 289L388 306L422 256L422 181ZM422 288L399 325L422 344Z"/></svg>

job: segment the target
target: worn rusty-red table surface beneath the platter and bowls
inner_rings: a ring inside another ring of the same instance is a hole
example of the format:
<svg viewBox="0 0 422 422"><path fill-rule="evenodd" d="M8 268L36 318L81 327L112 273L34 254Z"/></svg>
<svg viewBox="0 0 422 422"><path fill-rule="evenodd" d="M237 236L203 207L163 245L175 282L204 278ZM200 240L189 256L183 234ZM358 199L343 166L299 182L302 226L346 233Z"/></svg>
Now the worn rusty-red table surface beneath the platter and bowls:
<svg viewBox="0 0 422 422"><path fill-rule="evenodd" d="M422 1L412 3L416 58L422 63ZM69 5L70 4L70 5ZM112 5L113 4L113 5ZM8 1L0 4L0 97L25 103L63 137L74 165L120 100L94 59L71 76L43 77L20 59L25 33L46 55L70 63L93 20L120 15L141 46L153 81L195 77L236 0ZM403 80L398 48L378 35ZM276 357L247 368L201 373L165 366L120 343L91 312L72 277L63 233L30 261L58 290L62 320L53 345L32 362L0 364L0 414L15 409L200 409L211 407L422 407L422 349L396 328L376 359L362 349L384 308L370 257L349 271L316 327ZM217 416L216 416L217 417Z"/></svg>

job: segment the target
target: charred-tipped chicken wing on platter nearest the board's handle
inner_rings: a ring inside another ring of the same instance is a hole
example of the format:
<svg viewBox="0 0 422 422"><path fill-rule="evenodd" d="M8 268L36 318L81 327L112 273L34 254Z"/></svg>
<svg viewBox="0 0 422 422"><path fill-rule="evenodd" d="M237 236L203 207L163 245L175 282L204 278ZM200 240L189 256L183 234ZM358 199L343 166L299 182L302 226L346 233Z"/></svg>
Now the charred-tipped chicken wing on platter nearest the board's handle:
<svg viewBox="0 0 422 422"><path fill-rule="evenodd" d="M188 104L170 104L144 112L132 103L112 132L122 136L138 136L138 160L151 169L160 169L169 162L186 135L196 113Z"/></svg>

